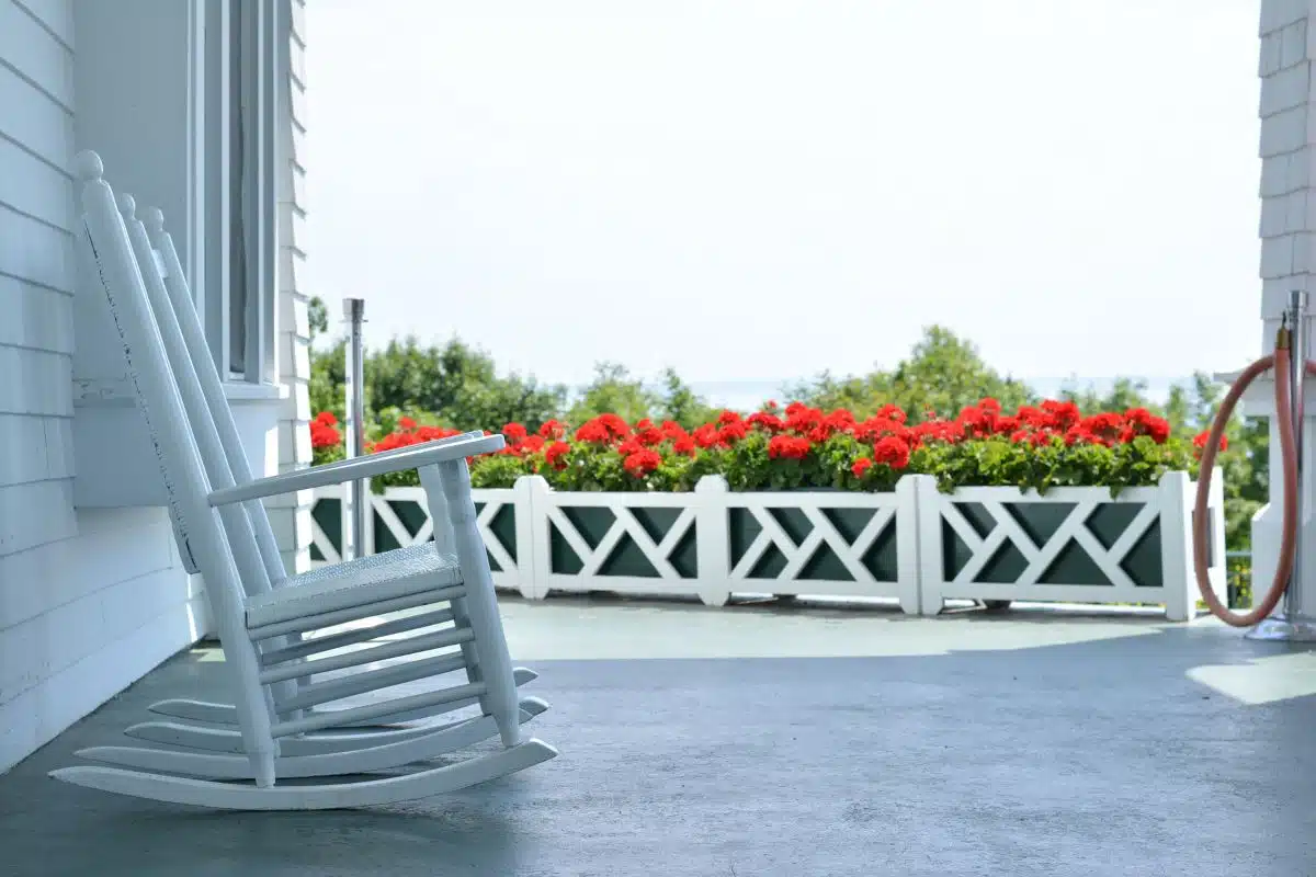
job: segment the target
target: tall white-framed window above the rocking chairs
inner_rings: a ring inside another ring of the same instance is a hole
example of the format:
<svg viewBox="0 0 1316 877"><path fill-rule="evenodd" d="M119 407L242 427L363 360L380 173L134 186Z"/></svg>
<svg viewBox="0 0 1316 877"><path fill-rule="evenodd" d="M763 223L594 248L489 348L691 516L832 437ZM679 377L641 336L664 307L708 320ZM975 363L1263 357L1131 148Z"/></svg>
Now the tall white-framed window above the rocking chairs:
<svg viewBox="0 0 1316 877"><path fill-rule="evenodd" d="M197 309L220 375L278 380L276 143L286 0L200 0Z"/></svg>

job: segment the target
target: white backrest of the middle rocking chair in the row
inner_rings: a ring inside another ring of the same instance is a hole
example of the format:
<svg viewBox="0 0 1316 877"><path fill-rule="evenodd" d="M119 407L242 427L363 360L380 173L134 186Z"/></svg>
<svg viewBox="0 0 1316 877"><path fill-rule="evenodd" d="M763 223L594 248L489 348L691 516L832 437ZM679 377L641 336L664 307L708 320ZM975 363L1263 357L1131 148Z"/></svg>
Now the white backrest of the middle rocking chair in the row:
<svg viewBox="0 0 1316 877"><path fill-rule="evenodd" d="M137 218L137 202L133 196L120 193L118 209L122 213L124 226L128 230L128 239L137 258L137 266L146 285L146 296L159 327L161 338L164 343L164 355L170 364L170 371L178 384L183 408L187 412L187 422L196 437L197 450L201 452L201 463L205 465L211 489L218 490L234 485L233 469L229 465L229 456L220 440L220 431L216 426L215 412L207 404L201 380L193 367L192 354L188 351L183 330L179 326L178 316L164 289L164 279L161 276L159 264L155 262L155 252L150 239L146 237L146 227ZM228 410L228 406L224 409ZM250 521L250 511L243 508L242 514L229 515L240 526L228 533L229 546L233 557L237 560L242 575L243 592L247 596L270 590L270 576L261 548L255 539L255 527Z"/></svg>

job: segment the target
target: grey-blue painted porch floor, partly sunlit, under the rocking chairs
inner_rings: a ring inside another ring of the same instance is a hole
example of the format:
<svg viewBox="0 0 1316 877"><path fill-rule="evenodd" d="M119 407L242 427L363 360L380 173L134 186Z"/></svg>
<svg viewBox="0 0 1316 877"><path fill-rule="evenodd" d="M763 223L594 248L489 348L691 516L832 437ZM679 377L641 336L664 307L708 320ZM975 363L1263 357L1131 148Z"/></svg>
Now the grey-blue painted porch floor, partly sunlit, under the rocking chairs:
<svg viewBox="0 0 1316 877"><path fill-rule="evenodd" d="M562 755L388 809L242 814L46 770L184 652L0 776L0 874L948 877L1316 873L1316 655L1213 621L504 598Z"/></svg>

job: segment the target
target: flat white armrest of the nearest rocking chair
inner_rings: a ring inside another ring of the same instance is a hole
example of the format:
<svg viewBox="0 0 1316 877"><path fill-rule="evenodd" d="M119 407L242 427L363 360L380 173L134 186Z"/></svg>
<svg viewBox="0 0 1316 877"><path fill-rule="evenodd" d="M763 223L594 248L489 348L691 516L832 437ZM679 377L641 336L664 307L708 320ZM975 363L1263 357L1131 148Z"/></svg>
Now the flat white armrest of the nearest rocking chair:
<svg viewBox="0 0 1316 877"><path fill-rule="evenodd" d="M345 484L347 481L370 479L376 475L407 472L438 463L450 463L467 456L492 454L503 450L505 444L507 440L501 435L486 435L480 438L461 437L459 440L438 439L397 448L391 452L370 454L350 460L326 463L325 465L313 465L308 469L297 469L296 472L271 475L265 479L249 481L247 484L212 490L207 500L212 506L263 500L265 497L280 496L295 490Z"/></svg>

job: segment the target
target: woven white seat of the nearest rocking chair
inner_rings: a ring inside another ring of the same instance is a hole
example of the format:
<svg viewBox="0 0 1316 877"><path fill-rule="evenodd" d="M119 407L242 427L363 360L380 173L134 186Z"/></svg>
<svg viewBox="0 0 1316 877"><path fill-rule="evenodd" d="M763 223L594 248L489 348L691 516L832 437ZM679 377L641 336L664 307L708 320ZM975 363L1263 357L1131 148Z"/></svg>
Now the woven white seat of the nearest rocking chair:
<svg viewBox="0 0 1316 877"><path fill-rule="evenodd" d="M247 601L249 628L462 584L457 557L433 543L395 548L290 577Z"/></svg>

